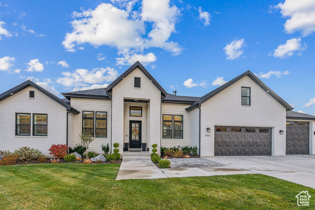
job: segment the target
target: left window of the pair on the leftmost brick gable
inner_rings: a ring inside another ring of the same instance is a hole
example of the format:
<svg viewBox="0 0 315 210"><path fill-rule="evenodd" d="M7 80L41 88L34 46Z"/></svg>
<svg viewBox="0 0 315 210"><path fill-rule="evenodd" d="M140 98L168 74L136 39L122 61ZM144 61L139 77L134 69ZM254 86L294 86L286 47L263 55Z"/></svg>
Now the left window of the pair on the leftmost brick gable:
<svg viewBox="0 0 315 210"><path fill-rule="evenodd" d="M31 114L15 114L15 135L31 135Z"/></svg>

